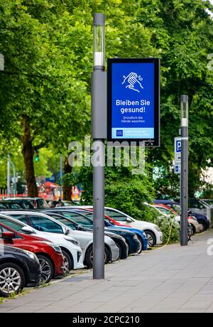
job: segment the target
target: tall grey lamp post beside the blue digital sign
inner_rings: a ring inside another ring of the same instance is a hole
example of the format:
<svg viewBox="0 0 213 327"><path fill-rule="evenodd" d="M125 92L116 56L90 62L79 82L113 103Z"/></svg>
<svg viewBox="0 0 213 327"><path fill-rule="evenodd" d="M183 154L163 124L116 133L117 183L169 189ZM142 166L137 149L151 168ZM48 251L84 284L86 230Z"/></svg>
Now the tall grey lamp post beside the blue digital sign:
<svg viewBox="0 0 213 327"><path fill-rule="evenodd" d="M91 85L93 150L93 278L104 279L104 139L107 139L107 73L104 72L104 14L94 14L94 64Z"/></svg>

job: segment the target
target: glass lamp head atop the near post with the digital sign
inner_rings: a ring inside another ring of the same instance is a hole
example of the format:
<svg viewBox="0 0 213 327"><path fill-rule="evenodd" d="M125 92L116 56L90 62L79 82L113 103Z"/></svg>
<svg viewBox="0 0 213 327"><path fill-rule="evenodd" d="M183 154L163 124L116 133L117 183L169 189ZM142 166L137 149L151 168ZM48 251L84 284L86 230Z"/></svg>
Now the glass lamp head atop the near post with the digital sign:
<svg viewBox="0 0 213 327"><path fill-rule="evenodd" d="M94 69L104 70L105 54L105 15L94 14L93 16L93 58Z"/></svg>

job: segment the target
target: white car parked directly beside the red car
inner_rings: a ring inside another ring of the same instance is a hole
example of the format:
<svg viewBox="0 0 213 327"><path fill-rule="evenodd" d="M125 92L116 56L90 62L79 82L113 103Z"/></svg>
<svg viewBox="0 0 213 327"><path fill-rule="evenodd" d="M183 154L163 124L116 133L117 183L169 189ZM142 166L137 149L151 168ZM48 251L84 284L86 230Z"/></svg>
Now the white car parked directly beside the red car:
<svg viewBox="0 0 213 327"><path fill-rule="evenodd" d="M23 223L22 221L14 218L13 215L9 216L11 212L1 213L0 215L0 222L13 228L13 230L17 230L17 223L20 225L20 229L17 232L23 232L26 234L33 234L38 237L43 237L50 242L55 243L58 245L61 250L62 254L65 258L65 268L66 271L72 269L82 269L84 268L83 264L83 256L82 250L80 248L79 242L73 239L72 237L66 236L64 234L55 234L52 232L40 232L35 230L35 228ZM12 218L13 216L13 218ZM13 224L16 222L16 225Z"/></svg>

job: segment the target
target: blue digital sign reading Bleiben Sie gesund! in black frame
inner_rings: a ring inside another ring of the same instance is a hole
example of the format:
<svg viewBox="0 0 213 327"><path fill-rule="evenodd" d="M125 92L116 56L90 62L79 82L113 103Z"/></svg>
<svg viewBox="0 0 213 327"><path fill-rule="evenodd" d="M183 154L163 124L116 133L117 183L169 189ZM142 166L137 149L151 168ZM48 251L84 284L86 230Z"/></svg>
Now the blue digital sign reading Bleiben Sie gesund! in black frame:
<svg viewBox="0 0 213 327"><path fill-rule="evenodd" d="M159 145L159 60L108 60L108 140Z"/></svg>

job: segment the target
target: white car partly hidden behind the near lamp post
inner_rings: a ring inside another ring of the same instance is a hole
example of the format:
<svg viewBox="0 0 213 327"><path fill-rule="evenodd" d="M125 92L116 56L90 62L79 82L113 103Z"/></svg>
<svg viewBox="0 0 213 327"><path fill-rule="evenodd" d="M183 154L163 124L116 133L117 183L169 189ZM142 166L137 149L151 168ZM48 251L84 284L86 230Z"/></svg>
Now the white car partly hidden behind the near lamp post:
<svg viewBox="0 0 213 327"><path fill-rule="evenodd" d="M4 211L5 215L16 217L16 219L30 225L35 230L45 232L45 235L59 233L69 235L77 240L82 249L83 262L87 267L92 267L93 257L93 234L91 232L83 232L82 230L72 230L66 225L60 223L58 220L45 215L45 213L28 211L28 210L11 210ZM56 234L55 234L56 235ZM47 238L47 237L46 237ZM105 263L109 261L114 262L119 258L119 247L116 246L111 237L104 237L105 245Z"/></svg>

